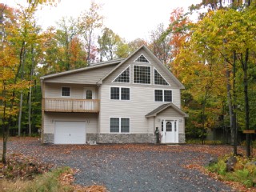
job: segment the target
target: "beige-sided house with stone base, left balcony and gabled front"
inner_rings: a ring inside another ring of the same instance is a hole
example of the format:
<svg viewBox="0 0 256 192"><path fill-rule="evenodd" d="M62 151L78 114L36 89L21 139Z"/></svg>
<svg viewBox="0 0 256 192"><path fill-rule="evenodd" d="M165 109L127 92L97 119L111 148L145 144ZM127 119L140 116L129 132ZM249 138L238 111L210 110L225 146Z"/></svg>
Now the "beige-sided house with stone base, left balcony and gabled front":
<svg viewBox="0 0 256 192"><path fill-rule="evenodd" d="M41 81L42 143L185 142L184 86L146 46Z"/></svg>

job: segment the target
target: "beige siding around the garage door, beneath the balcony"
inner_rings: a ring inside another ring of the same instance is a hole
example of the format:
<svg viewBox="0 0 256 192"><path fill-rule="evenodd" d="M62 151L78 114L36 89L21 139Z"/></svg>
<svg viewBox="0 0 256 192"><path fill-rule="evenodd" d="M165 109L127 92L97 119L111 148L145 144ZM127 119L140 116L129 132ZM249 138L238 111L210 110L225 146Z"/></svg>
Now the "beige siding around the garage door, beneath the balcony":
<svg viewBox="0 0 256 192"><path fill-rule="evenodd" d="M44 115L44 134L54 134L56 121L81 121L86 122L86 133L97 133L98 114L79 114L79 113L46 113Z"/></svg>

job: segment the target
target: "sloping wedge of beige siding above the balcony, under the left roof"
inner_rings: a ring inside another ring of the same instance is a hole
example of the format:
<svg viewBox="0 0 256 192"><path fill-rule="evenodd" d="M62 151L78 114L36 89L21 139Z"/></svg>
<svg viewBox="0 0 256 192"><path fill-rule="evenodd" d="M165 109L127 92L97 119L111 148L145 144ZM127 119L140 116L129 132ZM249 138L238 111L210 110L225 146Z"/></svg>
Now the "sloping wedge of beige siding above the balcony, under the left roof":
<svg viewBox="0 0 256 192"><path fill-rule="evenodd" d="M108 74L114 66L104 66L91 70L80 71L74 74L66 74L54 78L48 78L45 82L96 84L101 78Z"/></svg>

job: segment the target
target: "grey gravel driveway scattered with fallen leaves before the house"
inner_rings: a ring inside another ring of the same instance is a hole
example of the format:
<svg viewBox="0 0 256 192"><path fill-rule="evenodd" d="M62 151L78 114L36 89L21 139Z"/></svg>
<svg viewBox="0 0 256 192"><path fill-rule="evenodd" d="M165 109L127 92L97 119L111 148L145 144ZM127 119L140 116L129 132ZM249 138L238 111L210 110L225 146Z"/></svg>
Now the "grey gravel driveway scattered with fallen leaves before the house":
<svg viewBox="0 0 256 192"><path fill-rule="evenodd" d="M210 154L212 151L216 154ZM75 182L103 185L109 191L234 191L186 165L203 165L229 146L47 145L38 139L8 142L9 153L22 153L56 166L78 169Z"/></svg>

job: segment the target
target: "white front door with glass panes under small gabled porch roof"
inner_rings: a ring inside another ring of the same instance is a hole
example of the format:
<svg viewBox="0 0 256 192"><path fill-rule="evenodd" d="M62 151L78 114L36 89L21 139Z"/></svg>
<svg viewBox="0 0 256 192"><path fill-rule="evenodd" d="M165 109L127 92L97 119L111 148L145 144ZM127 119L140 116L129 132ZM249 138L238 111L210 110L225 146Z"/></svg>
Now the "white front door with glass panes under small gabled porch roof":
<svg viewBox="0 0 256 192"><path fill-rule="evenodd" d="M162 120L162 142L177 143L178 142L178 121Z"/></svg>

